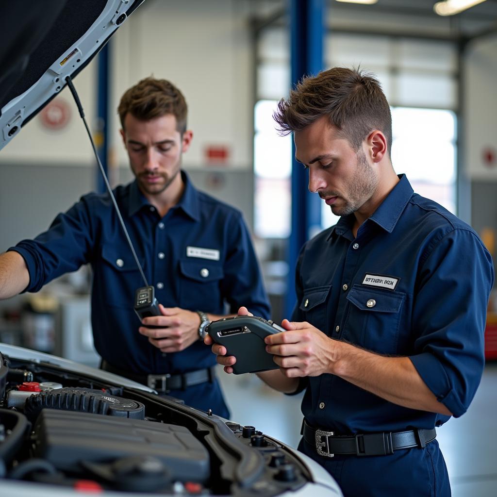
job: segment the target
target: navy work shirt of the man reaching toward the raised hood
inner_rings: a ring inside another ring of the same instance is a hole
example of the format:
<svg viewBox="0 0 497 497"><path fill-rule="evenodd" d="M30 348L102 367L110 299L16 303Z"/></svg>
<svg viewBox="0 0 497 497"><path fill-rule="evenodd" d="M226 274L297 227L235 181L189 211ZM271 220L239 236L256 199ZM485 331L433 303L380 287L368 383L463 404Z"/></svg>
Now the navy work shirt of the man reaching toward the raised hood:
<svg viewBox="0 0 497 497"><path fill-rule="evenodd" d="M227 308L236 313L244 305L254 315L269 318L242 214L196 190L184 171L181 174L184 193L163 218L136 181L114 190L157 300L165 307L218 315ZM108 193L84 195L69 211L59 214L47 232L11 249L26 261L30 281L25 291L29 292L82 264L91 264L95 348L113 366L138 374L177 374L216 364L215 355L202 341L163 356L139 333L133 302L135 290L144 282Z"/></svg>

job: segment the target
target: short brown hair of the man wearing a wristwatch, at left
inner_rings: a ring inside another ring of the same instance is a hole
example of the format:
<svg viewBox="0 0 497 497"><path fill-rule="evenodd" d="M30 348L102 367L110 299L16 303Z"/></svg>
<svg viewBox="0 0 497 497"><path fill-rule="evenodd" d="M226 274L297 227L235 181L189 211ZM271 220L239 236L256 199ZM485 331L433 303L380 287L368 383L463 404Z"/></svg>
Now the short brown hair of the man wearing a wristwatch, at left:
<svg viewBox="0 0 497 497"><path fill-rule="evenodd" d="M141 121L172 114L176 118L176 130L181 135L186 131L187 111L185 98L176 86L167 80L152 77L126 90L117 108L123 129L128 113Z"/></svg>

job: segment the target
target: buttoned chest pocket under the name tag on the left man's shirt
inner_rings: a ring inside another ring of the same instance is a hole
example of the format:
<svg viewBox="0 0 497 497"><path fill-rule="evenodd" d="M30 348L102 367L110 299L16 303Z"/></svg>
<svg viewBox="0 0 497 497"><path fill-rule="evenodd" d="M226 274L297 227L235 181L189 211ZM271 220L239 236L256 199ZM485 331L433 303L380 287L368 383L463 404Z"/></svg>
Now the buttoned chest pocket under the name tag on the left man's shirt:
<svg viewBox="0 0 497 497"><path fill-rule="evenodd" d="M183 309L220 313L223 266L211 260L180 260L180 303Z"/></svg>

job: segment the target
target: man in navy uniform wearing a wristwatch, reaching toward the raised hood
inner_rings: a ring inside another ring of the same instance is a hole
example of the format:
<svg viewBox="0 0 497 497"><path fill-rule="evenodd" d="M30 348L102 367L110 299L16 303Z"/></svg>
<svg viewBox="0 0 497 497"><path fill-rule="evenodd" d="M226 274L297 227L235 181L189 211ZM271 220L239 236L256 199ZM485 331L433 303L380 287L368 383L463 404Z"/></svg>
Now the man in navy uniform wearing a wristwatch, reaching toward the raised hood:
<svg viewBox="0 0 497 497"><path fill-rule="evenodd" d="M147 78L119 108L135 180L114 194L161 316L140 323L133 310L143 280L108 193L90 193L50 229L0 256L0 298L36 292L90 263L91 323L102 368L229 416L205 326L245 302L269 317L269 304L241 213L194 188L181 170L192 141L182 93ZM159 326L158 329L147 325Z"/></svg>

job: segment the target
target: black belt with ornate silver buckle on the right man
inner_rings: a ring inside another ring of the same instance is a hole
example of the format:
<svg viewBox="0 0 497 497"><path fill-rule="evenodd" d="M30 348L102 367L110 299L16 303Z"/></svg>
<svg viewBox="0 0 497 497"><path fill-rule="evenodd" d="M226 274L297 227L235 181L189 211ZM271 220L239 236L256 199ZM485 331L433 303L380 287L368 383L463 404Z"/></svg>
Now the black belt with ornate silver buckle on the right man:
<svg viewBox="0 0 497 497"><path fill-rule="evenodd" d="M424 448L427 443L435 439L436 430L419 428L409 431L335 435L333 431L313 428L304 419L302 434L306 442L313 445L321 456L333 457L334 454L386 456L393 454L394 450Z"/></svg>

